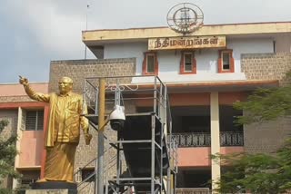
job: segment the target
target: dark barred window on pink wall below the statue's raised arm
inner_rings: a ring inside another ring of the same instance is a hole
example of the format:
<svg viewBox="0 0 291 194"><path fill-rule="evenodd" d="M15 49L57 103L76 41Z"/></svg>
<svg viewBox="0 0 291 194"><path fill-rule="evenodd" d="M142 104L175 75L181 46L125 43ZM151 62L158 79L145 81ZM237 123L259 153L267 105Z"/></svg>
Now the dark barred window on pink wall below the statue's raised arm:
<svg viewBox="0 0 291 194"><path fill-rule="evenodd" d="M44 110L26 111L25 131L44 130Z"/></svg>

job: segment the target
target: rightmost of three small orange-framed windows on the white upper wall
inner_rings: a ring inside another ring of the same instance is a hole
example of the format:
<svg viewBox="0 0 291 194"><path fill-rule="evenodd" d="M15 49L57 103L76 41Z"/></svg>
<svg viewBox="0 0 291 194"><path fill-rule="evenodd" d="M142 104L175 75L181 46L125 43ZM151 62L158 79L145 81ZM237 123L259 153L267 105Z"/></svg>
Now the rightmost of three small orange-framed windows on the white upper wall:
<svg viewBox="0 0 291 194"><path fill-rule="evenodd" d="M226 49L219 51L218 73L234 73L235 60L233 58L233 50Z"/></svg>

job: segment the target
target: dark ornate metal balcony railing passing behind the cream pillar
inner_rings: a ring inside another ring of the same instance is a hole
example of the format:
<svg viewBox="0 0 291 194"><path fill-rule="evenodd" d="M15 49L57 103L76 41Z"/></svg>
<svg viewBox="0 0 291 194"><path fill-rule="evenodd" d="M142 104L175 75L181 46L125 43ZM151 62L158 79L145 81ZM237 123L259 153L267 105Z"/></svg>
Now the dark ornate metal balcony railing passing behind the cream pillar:
<svg viewBox="0 0 291 194"><path fill-rule="evenodd" d="M172 141L176 141L179 148L210 147L211 135L207 132L173 133ZM234 131L220 132L221 146L244 146L244 133Z"/></svg>

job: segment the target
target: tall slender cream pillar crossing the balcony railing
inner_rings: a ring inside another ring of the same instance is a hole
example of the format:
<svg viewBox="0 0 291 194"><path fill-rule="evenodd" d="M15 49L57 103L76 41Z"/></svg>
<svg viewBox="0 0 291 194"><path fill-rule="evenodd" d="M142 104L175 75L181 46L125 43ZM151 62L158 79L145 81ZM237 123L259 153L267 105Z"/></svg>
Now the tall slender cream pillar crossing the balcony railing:
<svg viewBox="0 0 291 194"><path fill-rule="evenodd" d="M211 154L220 152L220 131L219 131L219 102L218 92L210 94L210 119L211 119ZM213 180L212 189L217 186L214 181L220 179L220 160L211 160L211 179Z"/></svg>

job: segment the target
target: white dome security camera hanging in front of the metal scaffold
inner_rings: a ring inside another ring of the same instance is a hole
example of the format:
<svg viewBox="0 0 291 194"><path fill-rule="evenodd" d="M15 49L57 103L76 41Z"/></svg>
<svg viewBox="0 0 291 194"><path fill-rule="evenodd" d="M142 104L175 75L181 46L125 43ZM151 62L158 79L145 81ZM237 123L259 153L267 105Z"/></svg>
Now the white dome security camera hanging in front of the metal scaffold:
<svg viewBox="0 0 291 194"><path fill-rule="evenodd" d="M125 126L125 107L115 105L114 111L109 116L111 129L122 131Z"/></svg>

